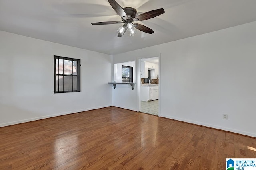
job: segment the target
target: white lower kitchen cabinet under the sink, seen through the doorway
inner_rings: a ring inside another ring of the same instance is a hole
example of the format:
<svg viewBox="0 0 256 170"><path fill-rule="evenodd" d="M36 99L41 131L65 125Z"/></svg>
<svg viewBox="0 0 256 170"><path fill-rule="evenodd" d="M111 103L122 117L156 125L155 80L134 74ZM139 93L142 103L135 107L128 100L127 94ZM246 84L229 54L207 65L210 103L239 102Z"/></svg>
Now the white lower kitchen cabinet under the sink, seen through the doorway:
<svg viewBox="0 0 256 170"><path fill-rule="evenodd" d="M158 99L158 86L141 86L140 100L148 102Z"/></svg>

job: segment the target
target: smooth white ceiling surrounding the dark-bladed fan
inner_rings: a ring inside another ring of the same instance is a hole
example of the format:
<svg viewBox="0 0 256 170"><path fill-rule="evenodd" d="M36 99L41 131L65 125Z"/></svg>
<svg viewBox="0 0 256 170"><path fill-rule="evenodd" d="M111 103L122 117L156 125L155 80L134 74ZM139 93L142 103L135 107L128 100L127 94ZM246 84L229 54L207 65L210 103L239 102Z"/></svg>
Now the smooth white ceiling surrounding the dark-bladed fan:
<svg viewBox="0 0 256 170"><path fill-rule="evenodd" d="M108 0L0 0L0 30L110 55L256 21L256 0L116 0L139 14L165 13L138 22L153 29L117 37L121 21Z"/></svg>

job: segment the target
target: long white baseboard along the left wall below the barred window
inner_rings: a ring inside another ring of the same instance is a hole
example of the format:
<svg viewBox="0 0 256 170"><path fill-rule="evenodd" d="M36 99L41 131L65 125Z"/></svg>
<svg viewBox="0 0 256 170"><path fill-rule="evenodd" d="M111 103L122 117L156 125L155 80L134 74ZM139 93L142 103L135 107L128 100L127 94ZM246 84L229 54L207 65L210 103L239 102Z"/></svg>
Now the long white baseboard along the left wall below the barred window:
<svg viewBox="0 0 256 170"><path fill-rule="evenodd" d="M36 120L41 120L41 119L47 119L50 117L56 117L56 116L61 116L61 115L68 115L68 114L73 114L73 113L78 113L78 112L83 112L83 111L89 111L89 110L94 110L94 109L101 109L104 107L110 107L112 105L105 105L105 106L100 106L100 107L91 107L91 108L86 108L86 109L80 109L80 110L75 110L75 111L70 111L70 112L63 112L63 113L58 113L58 114L53 114L53 115L46 115L46 116L41 116L41 117L34 117L31 119L24 119L24 120L19 120L19 121L13 121L13 122L8 122L8 123L2 123L0 124L0 127L5 127L5 126L10 126L10 125L16 125L20 123L26 123L30 121L36 121Z"/></svg>

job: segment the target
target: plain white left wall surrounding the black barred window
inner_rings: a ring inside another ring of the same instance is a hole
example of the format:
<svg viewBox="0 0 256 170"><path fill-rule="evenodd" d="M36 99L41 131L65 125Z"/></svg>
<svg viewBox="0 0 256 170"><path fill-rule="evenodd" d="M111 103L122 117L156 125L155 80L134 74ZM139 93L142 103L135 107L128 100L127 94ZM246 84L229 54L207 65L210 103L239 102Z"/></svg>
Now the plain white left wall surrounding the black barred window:
<svg viewBox="0 0 256 170"><path fill-rule="evenodd" d="M54 94L53 56L81 59L81 92ZM0 127L112 106L112 56L0 31Z"/></svg>

